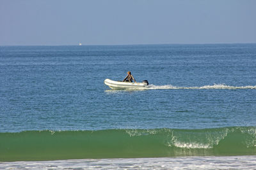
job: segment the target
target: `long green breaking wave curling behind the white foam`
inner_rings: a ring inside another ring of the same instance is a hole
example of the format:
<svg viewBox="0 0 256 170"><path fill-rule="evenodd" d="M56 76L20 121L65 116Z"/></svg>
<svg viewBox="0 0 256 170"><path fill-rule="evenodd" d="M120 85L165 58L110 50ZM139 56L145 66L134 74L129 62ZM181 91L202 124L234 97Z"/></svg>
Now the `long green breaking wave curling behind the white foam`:
<svg viewBox="0 0 256 170"><path fill-rule="evenodd" d="M256 127L0 133L0 161L256 155Z"/></svg>

